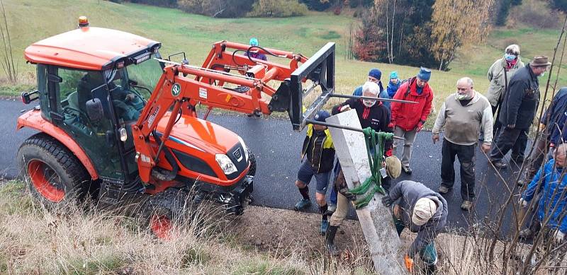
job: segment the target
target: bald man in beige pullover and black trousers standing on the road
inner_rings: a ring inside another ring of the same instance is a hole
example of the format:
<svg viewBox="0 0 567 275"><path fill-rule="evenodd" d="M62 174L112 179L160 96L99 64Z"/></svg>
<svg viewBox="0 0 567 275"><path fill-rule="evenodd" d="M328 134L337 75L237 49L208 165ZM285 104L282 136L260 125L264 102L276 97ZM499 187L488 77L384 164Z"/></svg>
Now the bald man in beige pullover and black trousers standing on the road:
<svg viewBox="0 0 567 275"><path fill-rule="evenodd" d="M456 83L456 93L449 95L437 115L432 129L432 139L439 141L439 131L445 127L441 149L440 194L447 194L455 183L455 155L461 163L461 209L468 211L473 205L474 161L478 133L483 129L484 141L481 146L485 153L490 151L492 142L492 108L488 100L473 90L473 80L468 77Z"/></svg>

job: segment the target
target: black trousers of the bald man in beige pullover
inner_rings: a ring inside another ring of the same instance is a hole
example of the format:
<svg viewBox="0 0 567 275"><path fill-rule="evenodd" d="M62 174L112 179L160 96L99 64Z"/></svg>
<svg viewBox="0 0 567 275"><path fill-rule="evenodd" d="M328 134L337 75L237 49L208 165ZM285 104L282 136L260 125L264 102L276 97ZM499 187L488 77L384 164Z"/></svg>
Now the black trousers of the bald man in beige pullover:
<svg viewBox="0 0 567 275"><path fill-rule="evenodd" d="M459 145L454 144L447 139L443 139L441 148L441 185L452 188L455 184L455 156L459 158L461 163L461 198L467 201L473 201L474 195L474 162L476 144Z"/></svg>

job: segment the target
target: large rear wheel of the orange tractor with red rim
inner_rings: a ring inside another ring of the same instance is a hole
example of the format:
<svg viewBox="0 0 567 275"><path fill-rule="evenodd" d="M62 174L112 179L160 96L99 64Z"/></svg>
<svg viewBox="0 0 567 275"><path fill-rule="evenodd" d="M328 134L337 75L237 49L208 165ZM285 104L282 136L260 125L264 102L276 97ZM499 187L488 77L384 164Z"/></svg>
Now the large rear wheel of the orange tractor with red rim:
<svg viewBox="0 0 567 275"><path fill-rule="evenodd" d="M91 177L67 147L47 134L35 134L18 149L18 165L31 194L45 206L84 199Z"/></svg>

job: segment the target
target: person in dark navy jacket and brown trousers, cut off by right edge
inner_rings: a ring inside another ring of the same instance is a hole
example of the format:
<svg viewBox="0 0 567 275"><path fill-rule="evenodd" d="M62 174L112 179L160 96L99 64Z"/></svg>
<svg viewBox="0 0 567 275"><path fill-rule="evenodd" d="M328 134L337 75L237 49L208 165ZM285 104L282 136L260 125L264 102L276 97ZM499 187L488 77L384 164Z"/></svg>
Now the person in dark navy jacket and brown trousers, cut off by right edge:
<svg viewBox="0 0 567 275"><path fill-rule="evenodd" d="M567 87L563 87L557 91L551 104L545 111L545 114L539 119L539 137L537 139L536 147L532 155L528 158L528 167L525 179L521 179L518 185L523 186L525 182L532 180L536 175L539 166L544 161L547 148L561 144L567 137L565 121L567 118ZM547 126L549 125L549 127Z"/></svg>

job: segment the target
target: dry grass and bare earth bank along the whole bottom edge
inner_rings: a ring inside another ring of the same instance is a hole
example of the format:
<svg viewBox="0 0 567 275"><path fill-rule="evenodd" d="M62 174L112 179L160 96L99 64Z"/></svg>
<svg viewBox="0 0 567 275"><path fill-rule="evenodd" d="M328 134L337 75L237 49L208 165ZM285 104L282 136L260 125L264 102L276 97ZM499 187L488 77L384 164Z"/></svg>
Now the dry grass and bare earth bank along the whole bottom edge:
<svg viewBox="0 0 567 275"><path fill-rule="evenodd" d="M373 269L356 221L342 226L346 233L337 235L337 245L343 252L330 258L313 230L319 218L313 213L252 206L244 216L210 216L207 226L187 223L170 240L157 240L134 218L91 207L48 211L24 189L15 181L0 186L0 274L371 274ZM408 247L415 234L405 230L401 238ZM507 242L497 242L489 261L491 240L478 227L440 234L437 274L500 274ZM530 248L518 247L520 260L511 260L505 274L516 274ZM424 274L422 263L416 263L415 274ZM549 274L546 266L530 274Z"/></svg>

